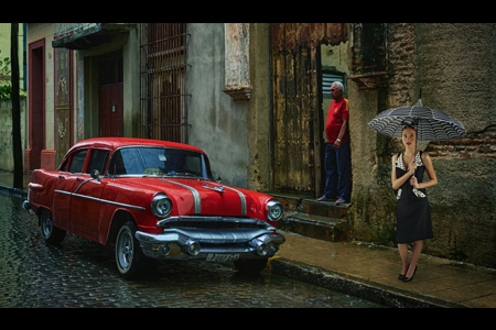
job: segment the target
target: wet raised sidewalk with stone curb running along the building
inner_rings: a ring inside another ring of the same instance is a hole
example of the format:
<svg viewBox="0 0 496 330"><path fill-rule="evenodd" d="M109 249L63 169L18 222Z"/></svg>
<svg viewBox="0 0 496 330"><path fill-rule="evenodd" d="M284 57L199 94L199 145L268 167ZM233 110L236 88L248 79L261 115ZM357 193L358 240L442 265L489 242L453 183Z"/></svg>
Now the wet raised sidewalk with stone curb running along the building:
<svg viewBox="0 0 496 330"><path fill-rule="evenodd" d="M25 198L30 178L14 190L13 173L0 172L0 193ZM272 273L388 307L496 308L496 270L422 254L413 280L403 283L397 249L281 233L287 241L269 262Z"/></svg>

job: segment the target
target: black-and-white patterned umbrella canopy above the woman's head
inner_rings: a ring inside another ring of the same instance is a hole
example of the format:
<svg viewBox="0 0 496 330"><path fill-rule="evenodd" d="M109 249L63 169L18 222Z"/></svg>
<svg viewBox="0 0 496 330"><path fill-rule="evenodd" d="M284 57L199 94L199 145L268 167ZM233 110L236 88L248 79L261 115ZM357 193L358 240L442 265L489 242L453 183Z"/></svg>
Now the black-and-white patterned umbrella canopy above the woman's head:
<svg viewBox="0 0 496 330"><path fill-rule="evenodd" d="M440 110L423 107L420 99L413 107L380 112L368 123L373 130L399 139L407 124L417 129L418 141L444 141L465 134L460 121Z"/></svg>

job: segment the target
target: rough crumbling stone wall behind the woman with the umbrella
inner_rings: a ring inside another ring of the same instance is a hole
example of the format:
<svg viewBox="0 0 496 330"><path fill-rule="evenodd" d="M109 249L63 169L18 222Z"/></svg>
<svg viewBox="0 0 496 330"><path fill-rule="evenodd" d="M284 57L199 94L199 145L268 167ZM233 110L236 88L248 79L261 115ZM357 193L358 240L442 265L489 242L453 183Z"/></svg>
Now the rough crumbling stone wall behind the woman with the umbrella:
<svg viewBox="0 0 496 330"><path fill-rule="evenodd" d="M418 143L439 179L428 189L434 239L423 252L495 267L495 24L390 23L387 32L387 84L369 90L349 85L354 235L396 245L390 170L401 142L371 132L367 123L389 108L413 106L421 90L424 107L456 118L467 132Z"/></svg>

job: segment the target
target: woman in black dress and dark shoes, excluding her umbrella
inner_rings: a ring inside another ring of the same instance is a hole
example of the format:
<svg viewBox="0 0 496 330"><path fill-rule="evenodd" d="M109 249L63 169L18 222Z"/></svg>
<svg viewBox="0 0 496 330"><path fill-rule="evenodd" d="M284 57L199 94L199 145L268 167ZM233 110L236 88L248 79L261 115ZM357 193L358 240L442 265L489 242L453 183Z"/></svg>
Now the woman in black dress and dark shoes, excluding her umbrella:
<svg viewBox="0 0 496 330"><path fill-rule="evenodd" d="M392 156L391 182L392 188L398 190L396 238L402 261L398 278L410 282L417 271L423 240L433 238L425 188L435 186L438 178L429 154L417 150L417 130L406 125L401 131L401 140L405 151ZM423 182L424 170L430 177L427 182ZM410 263L408 243L413 243Z"/></svg>

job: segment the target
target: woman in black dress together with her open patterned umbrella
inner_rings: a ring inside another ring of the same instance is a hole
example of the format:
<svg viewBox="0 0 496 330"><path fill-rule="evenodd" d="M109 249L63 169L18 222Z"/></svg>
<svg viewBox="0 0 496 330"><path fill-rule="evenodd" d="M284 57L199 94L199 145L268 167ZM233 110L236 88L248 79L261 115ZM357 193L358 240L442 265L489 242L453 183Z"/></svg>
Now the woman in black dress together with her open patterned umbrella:
<svg viewBox="0 0 496 330"><path fill-rule="evenodd" d="M400 138L403 143L405 151L392 156L391 182L392 188L398 190L396 239L403 262L399 279L410 282L417 270L423 241L433 237L425 188L438 184L431 157L417 150L417 140L459 139L465 134L465 128L453 117L423 107L420 98L413 107L382 111L368 124L381 134ZM424 170L428 172L430 179L423 183ZM408 243L413 243L410 263L408 263Z"/></svg>

